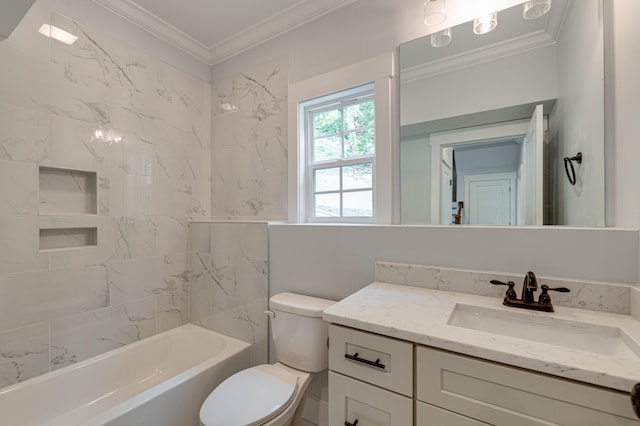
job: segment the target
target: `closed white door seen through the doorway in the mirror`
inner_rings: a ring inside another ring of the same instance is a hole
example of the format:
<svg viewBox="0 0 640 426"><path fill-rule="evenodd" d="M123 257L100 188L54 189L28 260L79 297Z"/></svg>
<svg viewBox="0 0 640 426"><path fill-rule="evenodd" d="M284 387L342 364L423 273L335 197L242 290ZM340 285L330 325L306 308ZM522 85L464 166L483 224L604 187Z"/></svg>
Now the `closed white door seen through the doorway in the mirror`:
<svg viewBox="0 0 640 426"><path fill-rule="evenodd" d="M516 174L464 177L470 225L513 225L516 222Z"/></svg>

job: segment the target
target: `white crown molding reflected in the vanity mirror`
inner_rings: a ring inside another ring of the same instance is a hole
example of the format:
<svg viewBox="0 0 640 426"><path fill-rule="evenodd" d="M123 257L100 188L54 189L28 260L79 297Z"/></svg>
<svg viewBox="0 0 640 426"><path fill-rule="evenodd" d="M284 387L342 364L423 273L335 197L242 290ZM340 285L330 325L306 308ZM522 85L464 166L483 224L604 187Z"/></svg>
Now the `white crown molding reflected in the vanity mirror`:
<svg viewBox="0 0 640 426"><path fill-rule="evenodd" d="M462 52L444 59L403 69L400 73L400 84L411 83L437 74L467 68L482 62L514 55L524 50L535 49L555 42L554 37L549 35L545 30L540 30L502 43Z"/></svg>

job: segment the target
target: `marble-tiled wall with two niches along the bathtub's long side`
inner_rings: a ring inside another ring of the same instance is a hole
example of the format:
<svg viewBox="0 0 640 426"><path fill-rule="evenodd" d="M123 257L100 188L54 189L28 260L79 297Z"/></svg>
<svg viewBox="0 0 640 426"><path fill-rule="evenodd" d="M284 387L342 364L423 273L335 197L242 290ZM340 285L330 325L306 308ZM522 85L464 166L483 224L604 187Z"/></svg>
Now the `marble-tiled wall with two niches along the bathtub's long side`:
<svg viewBox="0 0 640 426"><path fill-rule="evenodd" d="M79 39L44 37L43 23ZM36 2L0 41L0 387L188 321L211 85L117 36ZM40 196L39 166L94 174L96 208ZM96 228L97 247L39 250L39 229L75 227Z"/></svg>

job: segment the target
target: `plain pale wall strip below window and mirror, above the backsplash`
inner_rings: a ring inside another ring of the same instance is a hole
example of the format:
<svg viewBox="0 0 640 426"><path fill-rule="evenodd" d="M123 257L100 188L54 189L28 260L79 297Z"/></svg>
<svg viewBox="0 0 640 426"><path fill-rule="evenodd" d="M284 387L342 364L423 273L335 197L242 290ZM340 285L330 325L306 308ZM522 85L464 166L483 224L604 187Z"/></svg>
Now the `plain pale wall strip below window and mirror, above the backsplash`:
<svg viewBox="0 0 640 426"><path fill-rule="evenodd" d="M271 225L269 293L341 299L379 260L636 283L638 232L555 227Z"/></svg>

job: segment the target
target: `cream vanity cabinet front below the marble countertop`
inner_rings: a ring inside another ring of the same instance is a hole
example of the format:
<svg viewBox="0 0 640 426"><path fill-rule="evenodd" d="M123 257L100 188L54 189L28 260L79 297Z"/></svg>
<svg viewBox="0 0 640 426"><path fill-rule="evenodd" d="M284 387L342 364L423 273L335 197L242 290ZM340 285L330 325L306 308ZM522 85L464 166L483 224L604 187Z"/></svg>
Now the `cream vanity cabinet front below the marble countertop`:
<svg viewBox="0 0 640 426"><path fill-rule="evenodd" d="M625 392L334 324L329 343L330 425L640 426Z"/></svg>

